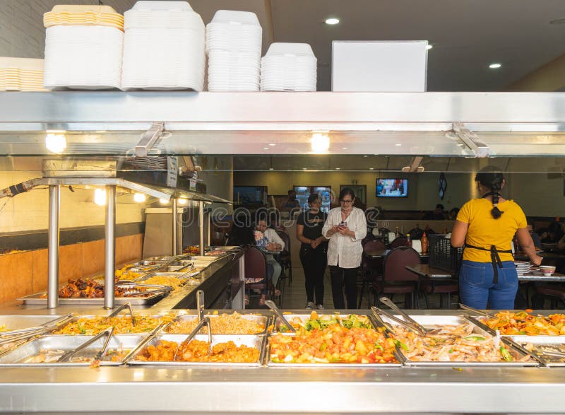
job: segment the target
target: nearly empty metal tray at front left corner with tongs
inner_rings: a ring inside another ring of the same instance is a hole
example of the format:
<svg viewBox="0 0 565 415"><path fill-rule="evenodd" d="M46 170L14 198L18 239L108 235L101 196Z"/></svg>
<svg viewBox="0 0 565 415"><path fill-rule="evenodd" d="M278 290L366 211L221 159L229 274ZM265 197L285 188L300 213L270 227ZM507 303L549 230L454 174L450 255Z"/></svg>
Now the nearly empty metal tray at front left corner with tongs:
<svg viewBox="0 0 565 415"><path fill-rule="evenodd" d="M78 362L70 361L64 363L57 363L57 359L66 351L76 349L81 344L92 339L94 336L43 336L35 340L28 341L27 343L19 346L17 349L0 356L1 366L23 366L23 367L38 367L38 366L90 366L90 361ZM108 349L105 356L100 361L100 366L120 366L123 359L127 355L127 351L133 350L136 346L147 337L146 335L122 335L117 334L112 336L108 344ZM79 351L74 358L93 358L95 354L102 349L105 339L100 339L94 344L91 344L83 351ZM121 351L122 356L119 361L111 361L112 351ZM30 363L29 360L44 353L52 353L53 362L47 363Z"/></svg>

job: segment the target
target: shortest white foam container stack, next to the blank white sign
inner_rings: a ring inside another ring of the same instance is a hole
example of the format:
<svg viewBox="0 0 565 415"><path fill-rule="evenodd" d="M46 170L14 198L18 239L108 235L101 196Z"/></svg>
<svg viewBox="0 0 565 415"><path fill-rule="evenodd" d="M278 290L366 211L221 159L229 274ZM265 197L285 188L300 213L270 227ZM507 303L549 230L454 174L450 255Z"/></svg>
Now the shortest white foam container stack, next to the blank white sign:
<svg viewBox="0 0 565 415"><path fill-rule="evenodd" d="M261 59L261 90L316 90L316 63L307 43L273 43Z"/></svg>

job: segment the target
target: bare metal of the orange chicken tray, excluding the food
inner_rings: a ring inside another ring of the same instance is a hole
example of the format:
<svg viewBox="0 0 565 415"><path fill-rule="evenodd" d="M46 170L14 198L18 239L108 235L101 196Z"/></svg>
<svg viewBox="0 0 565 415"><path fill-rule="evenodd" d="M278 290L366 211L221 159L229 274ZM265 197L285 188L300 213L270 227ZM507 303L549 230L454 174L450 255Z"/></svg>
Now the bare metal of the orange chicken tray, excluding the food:
<svg viewBox="0 0 565 415"><path fill-rule="evenodd" d="M259 358L253 363L203 363L203 362L179 362L179 361L136 361L136 356L141 354L145 347L147 346L157 346L161 340L175 341L177 344L181 344L186 340L186 334L160 334L145 344L143 348L136 351L133 354L131 360L127 363L129 365L140 365L140 366L207 366L210 368L216 368L218 366L229 366L232 367L259 367L262 366L262 362L265 358L265 348L266 348L266 336L254 336L253 334L213 334L212 335L212 345L218 343L225 343L227 341L233 341L237 346L242 346L243 344L248 347L254 347L259 351ZM208 334L196 334L194 339L201 341L208 341Z"/></svg>

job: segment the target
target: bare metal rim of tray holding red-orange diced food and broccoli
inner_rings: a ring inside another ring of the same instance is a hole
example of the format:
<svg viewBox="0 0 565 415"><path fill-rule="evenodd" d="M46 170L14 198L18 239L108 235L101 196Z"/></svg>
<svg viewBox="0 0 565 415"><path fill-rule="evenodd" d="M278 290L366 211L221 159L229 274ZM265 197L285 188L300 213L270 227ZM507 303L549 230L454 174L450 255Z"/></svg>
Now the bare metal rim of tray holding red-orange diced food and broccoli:
<svg viewBox="0 0 565 415"><path fill-rule="evenodd" d="M376 325L373 320L371 320L369 315L365 315L359 312L351 312L348 314L338 314L336 312L318 312L318 316L321 317L322 315L338 315L341 318L346 318L348 315L362 315L363 317L367 317L369 323L371 323L373 329L375 329ZM310 318L310 314L284 314L285 319L287 322L290 322L295 317L299 317L302 322L306 322ZM275 318L275 325L273 333L278 332L278 327L280 326L280 319L278 317ZM292 336L292 332L284 332L283 334ZM399 368L402 365L404 360L404 356L398 352L398 348L395 354L395 357L398 360L398 363L278 363L273 362L270 360L270 344L267 347L267 356L268 361L267 365L270 368Z"/></svg>

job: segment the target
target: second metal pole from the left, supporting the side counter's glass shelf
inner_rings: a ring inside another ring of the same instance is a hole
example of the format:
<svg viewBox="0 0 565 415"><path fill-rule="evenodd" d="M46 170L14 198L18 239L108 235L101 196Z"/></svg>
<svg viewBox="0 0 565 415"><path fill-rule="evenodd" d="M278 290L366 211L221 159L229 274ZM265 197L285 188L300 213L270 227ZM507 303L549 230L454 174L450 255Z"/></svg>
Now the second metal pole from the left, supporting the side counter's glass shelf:
<svg viewBox="0 0 565 415"><path fill-rule="evenodd" d="M116 186L106 186L104 308L114 308L116 273Z"/></svg>

